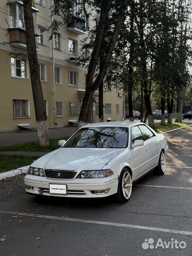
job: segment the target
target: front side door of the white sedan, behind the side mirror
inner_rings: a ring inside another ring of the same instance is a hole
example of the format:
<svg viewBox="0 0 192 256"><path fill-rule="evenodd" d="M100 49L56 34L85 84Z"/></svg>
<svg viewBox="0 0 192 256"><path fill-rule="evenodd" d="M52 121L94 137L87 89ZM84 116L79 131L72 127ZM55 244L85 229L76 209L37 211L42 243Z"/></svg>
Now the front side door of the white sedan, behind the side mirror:
<svg viewBox="0 0 192 256"><path fill-rule="evenodd" d="M144 140L144 137L141 130L136 125L131 128L131 151L133 154L131 168L133 172L133 180L137 180L149 170L149 152L147 151L147 146L144 145L134 148L133 143L137 139Z"/></svg>

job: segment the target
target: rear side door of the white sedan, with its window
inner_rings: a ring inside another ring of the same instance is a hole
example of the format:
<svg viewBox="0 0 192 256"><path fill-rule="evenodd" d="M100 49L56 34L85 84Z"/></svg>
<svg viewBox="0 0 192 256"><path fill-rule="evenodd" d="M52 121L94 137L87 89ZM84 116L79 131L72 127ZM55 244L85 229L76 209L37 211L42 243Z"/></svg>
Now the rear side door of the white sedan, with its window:
<svg viewBox="0 0 192 256"><path fill-rule="evenodd" d="M155 168L158 165L159 155L160 155L160 142L155 136L152 130L150 130L146 125L142 124L138 126L144 137L144 145L146 146L146 151L148 153L149 170Z"/></svg>

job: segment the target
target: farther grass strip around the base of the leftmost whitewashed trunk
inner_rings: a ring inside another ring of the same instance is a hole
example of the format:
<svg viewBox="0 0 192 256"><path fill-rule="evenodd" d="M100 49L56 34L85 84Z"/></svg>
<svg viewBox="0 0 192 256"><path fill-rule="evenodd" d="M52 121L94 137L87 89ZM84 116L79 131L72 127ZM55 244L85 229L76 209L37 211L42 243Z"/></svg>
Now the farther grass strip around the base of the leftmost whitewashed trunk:
<svg viewBox="0 0 192 256"><path fill-rule="evenodd" d="M68 137L61 138L67 140ZM25 151L25 152L51 152L57 148L59 139L49 139L49 146L47 148L41 148L38 145L38 142L27 142L23 144L18 144L14 146L2 146L0 151Z"/></svg>

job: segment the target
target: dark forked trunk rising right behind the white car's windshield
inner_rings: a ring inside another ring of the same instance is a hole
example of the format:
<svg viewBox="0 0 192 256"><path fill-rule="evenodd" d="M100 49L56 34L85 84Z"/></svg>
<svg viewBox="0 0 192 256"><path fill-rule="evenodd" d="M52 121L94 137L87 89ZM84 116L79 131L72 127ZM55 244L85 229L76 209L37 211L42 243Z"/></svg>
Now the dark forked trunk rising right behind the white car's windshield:
<svg viewBox="0 0 192 256"><path fill-rule="evenodd" d="M93 93L99 88L99 85L103 81L107 68L110 63L110 59L113 53L113 50L115 48L115 44L117 42L120 29L122 27L122 23L125 19L125 12L128 7L129 0L122 0L121 5L119 7L119 14L117 16L117 21L113 30L113 34L111 36L108 48L105 53L104 61L102 62L102 66L100 67L100 72L98 73L95 81L93 82L94 78L94 73L96 69L96 65L98 62L99 54L100 54L100 49L101 49L101 43L102 43L102 38L103 38L103 33L104 33L104 28L105 28L105 20L108 15L107 11L107 4L106 0L102 1L101 5L101 15L100 15L100 20L99 20L99 25L98 29L96 32L96 37L95 37L95 44L93 47L93 51L91 54L91 60L88 68L88 73L87 73L87 81L86 81L86 91L85 91L85 96L82 101L82 108L80 111L79 115L79 121L77 127L80 128L82 125L89 123L90 116L89 116L89 109L90 109L90 104L91 104L91 98Z"/></svg>

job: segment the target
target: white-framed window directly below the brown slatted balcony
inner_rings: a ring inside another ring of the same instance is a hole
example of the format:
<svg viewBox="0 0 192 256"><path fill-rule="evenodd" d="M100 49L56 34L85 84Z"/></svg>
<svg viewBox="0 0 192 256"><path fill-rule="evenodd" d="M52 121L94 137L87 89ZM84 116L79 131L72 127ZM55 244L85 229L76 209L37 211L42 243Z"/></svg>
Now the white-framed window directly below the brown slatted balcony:
<svg viewBox="0 0 192 256"><path fill-rule="evenodd" d="M26 61L11 58L11 76L27 78Z"/></svg>

